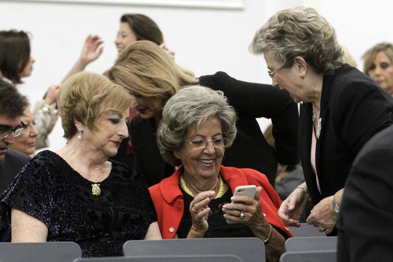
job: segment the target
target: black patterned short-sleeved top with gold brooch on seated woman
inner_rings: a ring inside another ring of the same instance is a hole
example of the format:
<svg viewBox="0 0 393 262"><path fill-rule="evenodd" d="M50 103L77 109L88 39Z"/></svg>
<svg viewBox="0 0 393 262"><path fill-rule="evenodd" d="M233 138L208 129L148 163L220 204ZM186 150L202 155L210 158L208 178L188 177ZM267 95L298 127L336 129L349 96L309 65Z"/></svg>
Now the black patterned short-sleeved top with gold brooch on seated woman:
<svg viewBox="0 0 393 262"><path fill-rule="evenodd" d="M83 257L122 256L124 242L143 239L157 215L143 178L111 162L101 195L93 196L93 182L64 159L48 150L37 154L1 196L0 229L9 227L13 207L44 222L47 241L74 241Z"/></svg>

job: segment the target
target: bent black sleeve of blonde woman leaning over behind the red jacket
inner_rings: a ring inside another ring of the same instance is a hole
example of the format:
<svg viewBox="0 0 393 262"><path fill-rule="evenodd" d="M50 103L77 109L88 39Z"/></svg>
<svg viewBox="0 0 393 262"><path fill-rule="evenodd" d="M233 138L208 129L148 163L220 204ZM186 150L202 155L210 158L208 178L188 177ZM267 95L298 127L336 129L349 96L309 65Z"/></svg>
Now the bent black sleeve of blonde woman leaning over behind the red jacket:
<svg viewBox="0 0 393 262"><path fill-rule="evenodd" d="M223 91L239 117L270 118L279 163L299 163L298 106L286 90L272 85L239 81L224 72L202 76L199 83Z"/></svg>

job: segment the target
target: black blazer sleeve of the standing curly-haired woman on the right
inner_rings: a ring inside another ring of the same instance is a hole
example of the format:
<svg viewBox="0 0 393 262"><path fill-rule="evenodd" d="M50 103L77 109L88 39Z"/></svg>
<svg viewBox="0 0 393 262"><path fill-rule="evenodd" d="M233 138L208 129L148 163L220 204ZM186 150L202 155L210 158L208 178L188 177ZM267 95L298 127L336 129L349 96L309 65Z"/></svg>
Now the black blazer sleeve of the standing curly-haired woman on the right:
<svg viewBox="0 0 393 262"><path fill-rule="evenodd" d="M392 124L392 102L382 88L364 81L341 88L335 105L335 126L355 155L373 135Z"/></svg>

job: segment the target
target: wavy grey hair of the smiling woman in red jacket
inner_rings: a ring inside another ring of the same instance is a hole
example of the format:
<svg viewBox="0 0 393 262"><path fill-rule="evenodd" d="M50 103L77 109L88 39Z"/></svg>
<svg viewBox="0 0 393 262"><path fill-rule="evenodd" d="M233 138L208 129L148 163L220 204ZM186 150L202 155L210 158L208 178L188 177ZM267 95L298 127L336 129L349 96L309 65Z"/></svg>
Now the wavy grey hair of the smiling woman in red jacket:
<svg viewBox="0 0 393 262"><path fill-rule="evenodd" d="M173 150L183 146L190 128L196 129L205 120L217 117L223 136L229 139L228 147L236 137L236 113L229 106L222 91L203 86L185 86L173 95L164 107L163 117L157 130L157 145L166 162L180 166Z"/></svg>

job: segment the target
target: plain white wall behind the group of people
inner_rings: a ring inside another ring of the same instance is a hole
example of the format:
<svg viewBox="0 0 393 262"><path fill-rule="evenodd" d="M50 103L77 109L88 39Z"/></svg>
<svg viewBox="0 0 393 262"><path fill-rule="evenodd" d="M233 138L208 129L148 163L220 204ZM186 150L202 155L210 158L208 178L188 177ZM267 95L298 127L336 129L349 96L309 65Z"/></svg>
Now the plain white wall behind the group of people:
<svg viewBox="0 0 393 262"><path fill-rule="evenodd" d="M110 0L108 0L110 2ZM274 12L298 5L316 8L337 30L339 41L360 64L365 49L380 41L393 41L393 3L382 0L244 0L244 10L148 7L131 5L15 2L0 0L0 29L23 29L32 33L32 76L25 79L22 92L31 101L42 98L46 88L59 83L78 58L85 37L99 34L104 53L87 70L103 72L116 58L113 44L123 13L151 17L164 33L176 61L197 76L225 71L229 75L259 83L270 83L262 57L248 51L255 30ZM269 124L260 120L264 130ZM51 149L64 145L58 122L50 135Z"/></svg>

